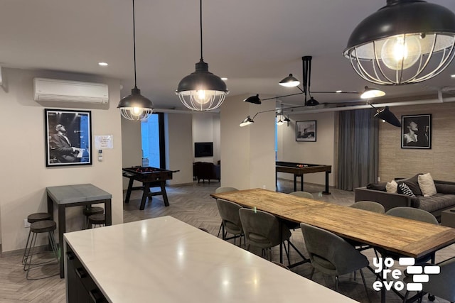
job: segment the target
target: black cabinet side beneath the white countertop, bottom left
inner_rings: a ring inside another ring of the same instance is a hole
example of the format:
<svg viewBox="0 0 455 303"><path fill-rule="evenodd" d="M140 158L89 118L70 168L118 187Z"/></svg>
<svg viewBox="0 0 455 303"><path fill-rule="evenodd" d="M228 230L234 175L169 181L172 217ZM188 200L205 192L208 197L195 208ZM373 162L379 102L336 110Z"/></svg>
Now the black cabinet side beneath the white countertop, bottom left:
<svg viewBox="0 0 455 303"><path fill-rule="evenodd" d="M66 246L69 303L104 303L107 299L85 270L70 246Z"/></svg>

